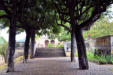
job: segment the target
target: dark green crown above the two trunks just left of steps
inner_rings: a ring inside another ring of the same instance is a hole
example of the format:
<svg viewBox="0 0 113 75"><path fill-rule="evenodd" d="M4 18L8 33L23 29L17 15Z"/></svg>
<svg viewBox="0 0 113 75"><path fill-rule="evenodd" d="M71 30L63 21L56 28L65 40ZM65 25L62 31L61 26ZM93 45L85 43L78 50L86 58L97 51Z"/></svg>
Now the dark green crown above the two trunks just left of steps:
<svg viewBox="0 0 113 75"><path fill-rule="evenodd" d="M31 31L35 30L39 36L48 34L52 37L52 34L58 34L60 32L60 26L56 25L54 10L51 10L50 5L50 0L37 0L36 4L29 8L29 11L24 10L18 26L22 26L23 29L29 29Z"/></svg>

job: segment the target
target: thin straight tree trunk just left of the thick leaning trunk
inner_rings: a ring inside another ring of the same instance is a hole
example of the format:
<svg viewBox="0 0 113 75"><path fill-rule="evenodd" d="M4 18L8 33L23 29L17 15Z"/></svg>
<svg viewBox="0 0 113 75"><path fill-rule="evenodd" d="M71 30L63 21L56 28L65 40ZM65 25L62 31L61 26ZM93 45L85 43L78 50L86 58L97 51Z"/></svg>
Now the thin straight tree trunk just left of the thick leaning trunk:
<svg viewBox="0 0 113 75"><path fill-rule="evenodd" d="M74 29L71 31L71 62L75 61L75 34Z"/></svg>

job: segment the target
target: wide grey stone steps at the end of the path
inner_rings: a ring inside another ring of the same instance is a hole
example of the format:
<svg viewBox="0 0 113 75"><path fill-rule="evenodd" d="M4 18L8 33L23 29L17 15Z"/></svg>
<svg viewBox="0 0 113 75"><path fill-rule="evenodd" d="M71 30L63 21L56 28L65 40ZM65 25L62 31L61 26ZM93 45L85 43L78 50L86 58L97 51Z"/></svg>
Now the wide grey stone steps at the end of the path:
<svg viewBox="0 0 113 75"><path fill-rule="evenodd" d="M63 48L37 48L35 57L64 57Z"/></svg>

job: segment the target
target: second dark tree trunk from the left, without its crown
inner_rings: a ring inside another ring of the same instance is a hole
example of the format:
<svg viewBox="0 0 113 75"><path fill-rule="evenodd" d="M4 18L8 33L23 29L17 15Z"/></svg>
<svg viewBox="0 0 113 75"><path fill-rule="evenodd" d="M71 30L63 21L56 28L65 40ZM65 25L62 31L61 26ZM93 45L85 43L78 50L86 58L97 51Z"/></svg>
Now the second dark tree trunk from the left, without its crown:
<svg viewBox="0 0 113 75"><path fill-rule="evenodd" d="M27 63L29 54L29 42L30 42L30 32L26 30L26 40L24 44L24 63Z"/></svg>

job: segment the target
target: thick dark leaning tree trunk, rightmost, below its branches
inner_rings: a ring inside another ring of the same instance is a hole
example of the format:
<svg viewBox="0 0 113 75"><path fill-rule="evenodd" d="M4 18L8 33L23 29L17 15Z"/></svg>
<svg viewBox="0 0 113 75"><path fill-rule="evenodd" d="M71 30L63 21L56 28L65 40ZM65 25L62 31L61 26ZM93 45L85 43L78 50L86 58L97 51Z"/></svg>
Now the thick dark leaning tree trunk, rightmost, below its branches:
<svg viewBox="0 0 113 75"><path fill-rule="evenodd" d="M88 66L88 60L86 55L86 47L85 47L81 29L75 29L75 37L76 37L76 43L77 43L77 49L78 49L79 68L88 69L89 66Z"/></svg>

